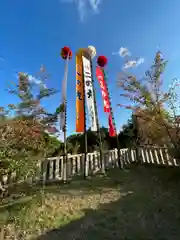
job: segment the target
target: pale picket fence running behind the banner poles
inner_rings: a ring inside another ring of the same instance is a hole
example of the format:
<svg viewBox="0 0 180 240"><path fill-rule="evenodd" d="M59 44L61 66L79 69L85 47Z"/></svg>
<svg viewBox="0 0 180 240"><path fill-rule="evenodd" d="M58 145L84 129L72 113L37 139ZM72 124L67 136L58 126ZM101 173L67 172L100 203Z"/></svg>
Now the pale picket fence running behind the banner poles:
<svg viewBox="0 0 180 240"><path fill-rule="evenodd" d="M138 153L138 157L136 157ZM168 154L166 148L139 148L137 151L134 149L121 149L120 160L124 166L130 165L132 162L149 163L166 166L179 166L178 162ZM38 167L36 176L29 178L29 181L44 182L59 181L64 179L64 171L66 171L67 179L73 176L84 174L93 175L101 170L101 161L99 152L87 154L86 168L84 168L84 154L68 155L67 164L64 163L62 156L45 159ZM118 150L110 150L104 153L105 169L118 167ZM66 165L66 167L65 167ZM13 179L15 177L12 176ZM4 176L3 183L12 183L11 176ZM27 180L27 179L26 179Z"/></svg>

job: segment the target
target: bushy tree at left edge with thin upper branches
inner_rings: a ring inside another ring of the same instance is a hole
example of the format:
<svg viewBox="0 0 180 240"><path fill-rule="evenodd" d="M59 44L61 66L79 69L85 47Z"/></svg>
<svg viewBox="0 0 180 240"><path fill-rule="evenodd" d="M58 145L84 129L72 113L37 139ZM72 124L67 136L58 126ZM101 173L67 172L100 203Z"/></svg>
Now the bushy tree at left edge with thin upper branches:
<svg viewBox="0 0 180 240"><path fill-rule="evenodd" d="M8 89L19 98L19 103L0 109L1 186L4 174L16 172L17 178L33 175L46 155L45 131L54 126L57 114L48 113L41 102L57 91L47 88L43 79L39 82L34 86L28 74L19 73L18 84L13 83L13 88Z"/></svg>

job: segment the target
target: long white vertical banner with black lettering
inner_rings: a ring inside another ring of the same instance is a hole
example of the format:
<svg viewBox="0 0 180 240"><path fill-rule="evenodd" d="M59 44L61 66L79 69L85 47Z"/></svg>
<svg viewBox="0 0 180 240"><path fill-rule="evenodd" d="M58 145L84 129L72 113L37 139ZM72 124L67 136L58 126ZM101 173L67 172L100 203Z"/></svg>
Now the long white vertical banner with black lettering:
<svg viewBox="0 0 180 240"><path fill-rule="evenodd" d="M85 95L87 108L89 112L89 121L91 131L97 131L97 122L96 122L96 112L94 106L94 92L92 86L92 72L91 72L91 62L86 57L82 56L83 61L83 74L84 74L84 84L85 84Z"/></svg>

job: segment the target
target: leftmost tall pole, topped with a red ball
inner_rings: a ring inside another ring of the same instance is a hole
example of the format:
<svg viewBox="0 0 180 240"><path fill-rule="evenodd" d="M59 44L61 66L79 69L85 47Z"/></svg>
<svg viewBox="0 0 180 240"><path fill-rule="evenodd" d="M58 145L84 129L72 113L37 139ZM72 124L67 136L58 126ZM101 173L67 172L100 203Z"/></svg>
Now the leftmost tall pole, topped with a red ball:
<svg viewBox="0 0 180 240"><path fill-rule="evenodd" d="M64 133L64 164L63 164L63 181L67 181L67 77L68 77L68 63L72 58L70 48L64 47L61 50L61 57L65 60L64 79L62 84L62 104L60 105L60 130Z"/></svg>

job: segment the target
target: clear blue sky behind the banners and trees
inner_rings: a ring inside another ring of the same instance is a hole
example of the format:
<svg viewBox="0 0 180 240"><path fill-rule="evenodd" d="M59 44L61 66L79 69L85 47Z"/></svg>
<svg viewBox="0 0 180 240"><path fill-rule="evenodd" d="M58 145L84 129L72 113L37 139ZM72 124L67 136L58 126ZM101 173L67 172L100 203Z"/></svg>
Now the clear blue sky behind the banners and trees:
<svg viewBox="0 0 180 240"><path fill-rule="evenodd" d="M145 62L133 70L143 76L159 47L169 60L164 76L166 88L173 77L180 77L178 9L179 0L1 0L0 105L17 101L4 91L9 80L16 81L15 72L35 75L41 64L52 75L47 86L60 90L64 71L60 49L66 45L75 53L79 48L93 45L98 55L108 58L109 89L120 129L130 112L116 107L117 103L125 103L117 88L117 74L123 60L112 52L127 47L133 56L143 57ZM68 134L75 131L75 81L74 57L68 76ZM100 124L107 126L97 80L95 87ZM45 107L53 111L59 100L60 94L53 96L44 103Z"/></svg>

